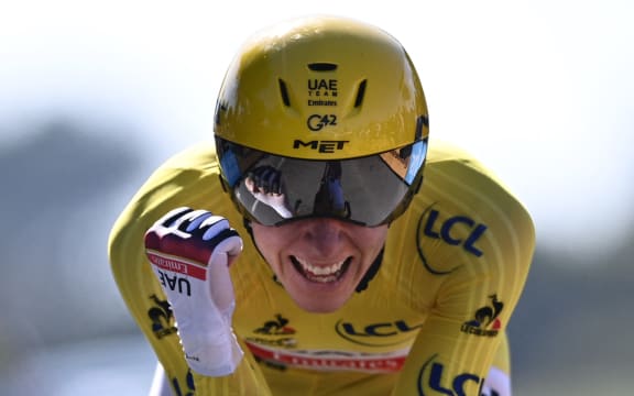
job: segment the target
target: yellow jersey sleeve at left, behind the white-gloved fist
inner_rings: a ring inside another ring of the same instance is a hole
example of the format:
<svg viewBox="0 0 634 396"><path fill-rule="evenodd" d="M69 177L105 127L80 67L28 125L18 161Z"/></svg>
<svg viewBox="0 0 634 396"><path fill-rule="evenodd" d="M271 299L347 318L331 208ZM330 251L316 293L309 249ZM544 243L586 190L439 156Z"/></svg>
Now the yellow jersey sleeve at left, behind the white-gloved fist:
<svg viewBox="0 0 634 396"><path fill-rule="evenodd" d="M174 395L267 395L267 385L250 354L232 375L205 377L189 371L166 297L145 257L145 231L170 210L188 206L230 217L218 179L212 146L188 150L156 169L114 222L108 241L111 271L136 324L150 342ZM184 191L187 191L184 194ZM231 218L233 224L238 221ZM244 349L244 345L242 345Z"/></svg>

